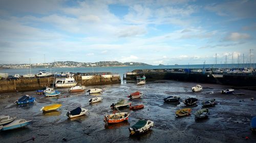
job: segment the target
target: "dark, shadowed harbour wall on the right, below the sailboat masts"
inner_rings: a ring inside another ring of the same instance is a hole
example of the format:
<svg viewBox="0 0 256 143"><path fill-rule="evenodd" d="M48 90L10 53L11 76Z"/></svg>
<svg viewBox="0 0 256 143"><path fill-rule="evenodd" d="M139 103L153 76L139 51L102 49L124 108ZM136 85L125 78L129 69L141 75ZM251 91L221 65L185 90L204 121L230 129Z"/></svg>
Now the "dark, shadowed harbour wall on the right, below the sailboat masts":
<svg viewBox="0 0 256 143"><path fill-rule="evenodd" d="M171 73L171 72L148 72L126 74L126 80L136 80L136 76L146 76L146 81L155 80L178 80L188 82L204 82L204 83L217 83L233 85L236 87L256 87L256 76L245 75L222 75L215 76L213 74L200 74L200 73Z"/></svg>

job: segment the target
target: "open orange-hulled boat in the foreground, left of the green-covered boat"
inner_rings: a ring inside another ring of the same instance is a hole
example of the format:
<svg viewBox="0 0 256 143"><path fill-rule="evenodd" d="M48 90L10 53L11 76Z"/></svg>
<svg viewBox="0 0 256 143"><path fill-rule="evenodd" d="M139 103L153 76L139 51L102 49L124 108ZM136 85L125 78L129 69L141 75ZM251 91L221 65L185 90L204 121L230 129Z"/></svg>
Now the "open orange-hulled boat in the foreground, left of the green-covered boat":
<svg viewBox="0 0 256 143"><path fill-rule="evenodd" d="M123 121L128 121L128 119L129 119L128 112L118 112L118 113L113 113L113 114L104 116L104 122L108 124L120 123Z"/></svg>

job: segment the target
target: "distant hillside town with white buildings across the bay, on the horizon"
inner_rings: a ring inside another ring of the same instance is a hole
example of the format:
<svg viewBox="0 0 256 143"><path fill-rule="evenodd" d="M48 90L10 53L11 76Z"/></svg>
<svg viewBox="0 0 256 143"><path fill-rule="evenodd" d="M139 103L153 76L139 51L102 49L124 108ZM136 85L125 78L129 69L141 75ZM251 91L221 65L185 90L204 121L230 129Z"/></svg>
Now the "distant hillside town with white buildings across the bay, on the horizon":
<svg viewBox="0 0 256 143"><path fill-rule="evenodd" d="M66 62L53 62L53 63L36 63L36 64L0 64L0 69L20 69L20 68L66 68L66 67L111 67L111 66L152 66L145 63L138 63L138 62L126 62L121 63L117 61L100 61L96 63L81 63L81 62L73 62L73 61L66 61Z"/></svg>

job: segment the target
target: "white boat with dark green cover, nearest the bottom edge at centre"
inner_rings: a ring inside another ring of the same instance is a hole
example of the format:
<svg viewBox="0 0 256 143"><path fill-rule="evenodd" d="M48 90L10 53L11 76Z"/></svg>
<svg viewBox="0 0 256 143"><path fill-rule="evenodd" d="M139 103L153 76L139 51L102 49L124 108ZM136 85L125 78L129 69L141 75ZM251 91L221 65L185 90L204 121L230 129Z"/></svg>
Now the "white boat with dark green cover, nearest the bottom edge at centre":
<svg viewBox="0 0 256 143"><path fill-rule="evenodd" d="M140 120L129 128L131 135L138 135L150 130L154 126L154 122L150 120Z"/></svg>

